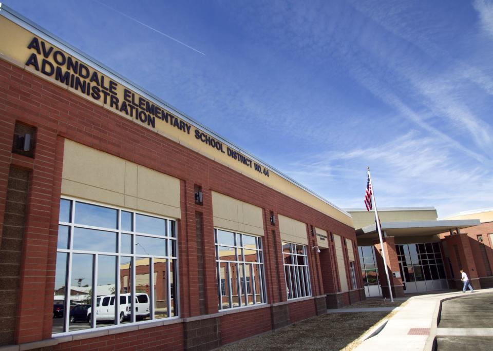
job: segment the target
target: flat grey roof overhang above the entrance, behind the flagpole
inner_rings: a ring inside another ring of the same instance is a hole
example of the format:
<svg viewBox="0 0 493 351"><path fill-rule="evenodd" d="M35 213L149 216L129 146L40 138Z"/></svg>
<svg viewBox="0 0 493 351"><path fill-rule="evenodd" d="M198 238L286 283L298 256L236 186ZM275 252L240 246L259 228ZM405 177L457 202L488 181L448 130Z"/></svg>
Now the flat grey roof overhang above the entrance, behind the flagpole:
<svg viewBox="0 0 493 351"><path fill-rule="evenodd" d="M480 225L480 220L449 220L449 221L409 221L409 222L382 222L382 231L388 237L419 237L437 235L450 229L464 229ZM377 238L375 224L356 230L358 239Z"/></svg>

